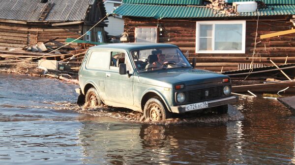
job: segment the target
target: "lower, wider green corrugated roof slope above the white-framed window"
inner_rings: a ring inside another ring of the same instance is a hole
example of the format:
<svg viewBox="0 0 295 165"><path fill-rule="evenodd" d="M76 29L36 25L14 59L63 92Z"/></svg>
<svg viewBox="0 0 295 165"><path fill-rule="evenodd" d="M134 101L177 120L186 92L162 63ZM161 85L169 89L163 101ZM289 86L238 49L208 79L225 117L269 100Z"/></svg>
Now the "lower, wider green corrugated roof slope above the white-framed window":
<svg viewBox="0 0 295 165"><path fill-rule="evenodd" d="M214 14L213 9L198 6L150 5L150 4L123 4L113 13L121 16L147 18L221 18L245 16L275 16L295 15L295 5L268 5L258 12L239 13L239 15Z"/></svg>

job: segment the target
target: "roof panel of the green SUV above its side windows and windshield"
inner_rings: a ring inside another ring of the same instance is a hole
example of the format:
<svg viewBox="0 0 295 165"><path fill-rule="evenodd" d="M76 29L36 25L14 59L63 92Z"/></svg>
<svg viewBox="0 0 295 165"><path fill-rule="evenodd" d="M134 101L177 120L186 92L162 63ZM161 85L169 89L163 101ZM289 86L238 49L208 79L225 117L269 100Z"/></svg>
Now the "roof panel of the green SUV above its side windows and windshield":
<svg viewBox="0 0 295 165"><path fill-rule="evenodd" d="M156 47L177 47L172 44L159 44L159 43L116 43L116 44L105 44L90 47L90 49L95 48L112 48L112 49L124 49L126 51L131 51L135 49L147 49Z"/></svg>

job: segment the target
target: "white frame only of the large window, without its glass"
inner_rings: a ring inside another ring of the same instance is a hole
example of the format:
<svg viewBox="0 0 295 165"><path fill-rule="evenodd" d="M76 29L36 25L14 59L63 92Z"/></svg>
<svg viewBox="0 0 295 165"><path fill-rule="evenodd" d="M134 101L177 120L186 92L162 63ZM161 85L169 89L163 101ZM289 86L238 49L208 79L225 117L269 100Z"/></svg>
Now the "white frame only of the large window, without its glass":
<svg viewBox="0 0 295 165"><path fill-rule="evenodd" d="M199 50L200 43L200 24L212 24L212 49L213 50ZM242 49L241 50L214 50L215 44L215 24L242 24ZM246 21L202 21L196 22L196 53L245 53L246 47Z"/></svg>

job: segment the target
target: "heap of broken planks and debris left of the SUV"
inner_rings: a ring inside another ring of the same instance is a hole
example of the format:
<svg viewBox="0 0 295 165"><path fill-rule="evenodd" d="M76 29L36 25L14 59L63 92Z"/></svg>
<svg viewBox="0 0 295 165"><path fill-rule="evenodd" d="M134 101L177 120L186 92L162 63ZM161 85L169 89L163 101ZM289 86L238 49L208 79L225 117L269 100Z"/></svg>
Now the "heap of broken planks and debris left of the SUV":
<svg viewBox="0 0 295 165"><path fill-rule="evenodd" d="M0 72L46 76L78 83L78 71L86 50L94 45L82 43L71 47L56 39L25 49L0 50Z"/></svg>

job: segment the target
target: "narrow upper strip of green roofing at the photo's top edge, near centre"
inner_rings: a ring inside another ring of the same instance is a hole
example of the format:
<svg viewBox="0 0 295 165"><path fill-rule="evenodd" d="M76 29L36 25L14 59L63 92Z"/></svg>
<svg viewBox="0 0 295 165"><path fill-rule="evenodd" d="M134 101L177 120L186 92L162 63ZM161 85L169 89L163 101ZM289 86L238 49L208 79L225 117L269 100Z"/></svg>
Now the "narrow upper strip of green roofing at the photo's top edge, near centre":
<svg viewBox="0 0 295 165"><path fill-rule="evenodd" d="M200 5L203 0L123 0L123 3Z"/></svg>

